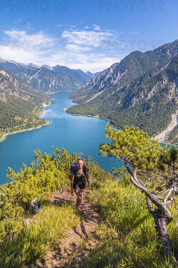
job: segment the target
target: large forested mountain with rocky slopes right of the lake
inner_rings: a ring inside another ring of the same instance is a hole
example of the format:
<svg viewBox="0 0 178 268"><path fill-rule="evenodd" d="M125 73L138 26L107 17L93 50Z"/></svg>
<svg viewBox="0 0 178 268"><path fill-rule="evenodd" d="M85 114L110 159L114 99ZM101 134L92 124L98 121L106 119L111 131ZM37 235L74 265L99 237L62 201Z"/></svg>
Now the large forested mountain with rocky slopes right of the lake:
<svg viewBox="0 0 178 268"><path fill-rule="evenodd" d="M150 135L160 133L178 110L178 40L130 53L70 97L79 105L69 113L104 117L119 129L135 125Z"/></svg>

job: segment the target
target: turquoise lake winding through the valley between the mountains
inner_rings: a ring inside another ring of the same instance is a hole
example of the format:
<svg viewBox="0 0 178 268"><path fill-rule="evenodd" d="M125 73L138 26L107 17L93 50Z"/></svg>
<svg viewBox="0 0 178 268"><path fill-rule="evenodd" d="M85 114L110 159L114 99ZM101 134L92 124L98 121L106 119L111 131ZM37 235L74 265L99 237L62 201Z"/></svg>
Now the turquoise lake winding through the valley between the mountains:
<svg viewBox="0 0 178 268"><path fill-rule="evenodd" d="M34 159L34 150L42 154L53 154L55 147L64 148L70 154L84 153L97 161L102 169L109 172L113 167L121 167L121 163L113 157L98 154L100 143L107 143L105 128L107 120L91 116L70 115L65 108L74 105L68 97L69 92L57 92L50 95L52 104L45 108L39 116L51 123L39 129L8 135L0 142L0 184L7 182L7 168L20 172L22 163L30 166Z"/></svg>

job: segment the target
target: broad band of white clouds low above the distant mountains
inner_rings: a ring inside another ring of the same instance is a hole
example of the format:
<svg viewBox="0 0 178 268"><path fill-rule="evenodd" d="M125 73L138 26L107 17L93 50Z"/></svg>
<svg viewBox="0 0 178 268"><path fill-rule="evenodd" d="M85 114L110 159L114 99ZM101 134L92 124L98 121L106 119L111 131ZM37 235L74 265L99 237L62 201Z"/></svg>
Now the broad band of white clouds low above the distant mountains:
<svg viewBox="0 0 178 268"><path fill-rule="evenodd" d="M115 53L107 51L107 46L102 50L102 53L105 51L103 54L98 50L99 40L115 40L115 33L109 31L68 29L58 40L43 31L29 34L12 29L4 33L7 39L1 42L1 57L25 64L59 64L71 69L98 72L120 60Z"/></svg>

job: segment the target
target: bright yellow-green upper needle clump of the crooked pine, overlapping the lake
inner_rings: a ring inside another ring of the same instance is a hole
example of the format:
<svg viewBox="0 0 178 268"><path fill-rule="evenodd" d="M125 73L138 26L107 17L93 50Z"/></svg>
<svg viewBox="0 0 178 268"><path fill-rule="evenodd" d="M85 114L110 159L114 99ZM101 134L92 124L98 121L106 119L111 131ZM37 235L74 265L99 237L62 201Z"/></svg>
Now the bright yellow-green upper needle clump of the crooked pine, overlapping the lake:
<svg viewBox="0 0 178 268"><path fill-rule="evenodd" d="M118 132L112 131L108 124L106 137L112 144L101 144L100 154L115 156L123 161L128 159L128 164L134 165L139 170L153 168L154 162L158 160L159 153L163 150L157 140L151 141L148 134L134 126L125 126L124 130Z"/></svg>

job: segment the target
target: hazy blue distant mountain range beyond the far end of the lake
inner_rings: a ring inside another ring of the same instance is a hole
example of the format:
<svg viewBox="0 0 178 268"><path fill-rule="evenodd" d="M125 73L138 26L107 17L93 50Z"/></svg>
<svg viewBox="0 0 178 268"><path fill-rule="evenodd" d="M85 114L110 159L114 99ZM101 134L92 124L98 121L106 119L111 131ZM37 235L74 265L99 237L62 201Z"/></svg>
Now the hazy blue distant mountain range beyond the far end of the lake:
<svg viewBox="0 0 178 268"><path fill-rule="evenodd" d="M66 66L28 65L14 60L0 58L0 67L44 92L76 91L95 74L82 70L70 69Z"/></svg>

